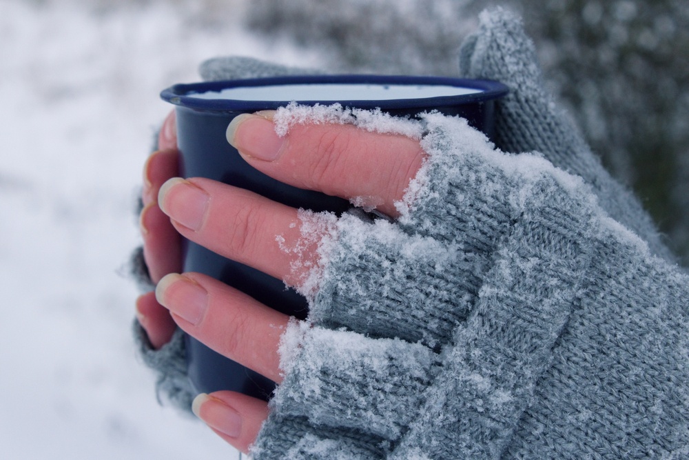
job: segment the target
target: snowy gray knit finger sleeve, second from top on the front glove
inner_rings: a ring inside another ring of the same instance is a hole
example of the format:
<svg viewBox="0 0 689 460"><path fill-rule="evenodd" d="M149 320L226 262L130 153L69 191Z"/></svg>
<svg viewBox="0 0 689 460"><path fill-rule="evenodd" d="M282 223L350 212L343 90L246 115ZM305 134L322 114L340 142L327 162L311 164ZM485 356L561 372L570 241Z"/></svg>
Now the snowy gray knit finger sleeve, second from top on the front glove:
<svg viewBox="0 0 689 460"><path fill-rule="evenodd" d="M484 258L383 220L345 216L338 227L311 321L431 348L449 341L469 313Z"/></svg>

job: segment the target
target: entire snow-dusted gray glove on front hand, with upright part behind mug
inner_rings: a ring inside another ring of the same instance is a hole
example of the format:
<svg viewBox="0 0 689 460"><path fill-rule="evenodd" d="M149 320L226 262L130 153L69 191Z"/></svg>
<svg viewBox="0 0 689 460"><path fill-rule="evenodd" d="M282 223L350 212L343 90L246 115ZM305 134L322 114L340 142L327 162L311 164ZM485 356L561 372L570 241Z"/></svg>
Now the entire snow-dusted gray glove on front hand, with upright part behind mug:
<svg viewBox="0 0 689 460"><path fill-rule="evenodd" d="M483 14L462 61L502 62L498 142L551 150L424 117L400 222L337 224L255 458L686 457L689 278L630 195L606 197L515 17Z"/></svg>

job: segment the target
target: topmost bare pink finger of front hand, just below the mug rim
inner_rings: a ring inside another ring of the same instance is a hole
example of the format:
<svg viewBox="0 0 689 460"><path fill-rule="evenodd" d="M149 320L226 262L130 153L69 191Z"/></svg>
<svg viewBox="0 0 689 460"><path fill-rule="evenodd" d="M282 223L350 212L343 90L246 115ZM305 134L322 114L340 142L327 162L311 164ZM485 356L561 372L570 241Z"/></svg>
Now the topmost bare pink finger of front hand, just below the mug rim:
<svg viewBox="0 0 689 460"><path fill-rule="evenodd" d="M270 114L243 114L227 139L254 168L278 181L318 190L397 217L425 154L418 141L351 125L298 125L278 137Z"/></svg>

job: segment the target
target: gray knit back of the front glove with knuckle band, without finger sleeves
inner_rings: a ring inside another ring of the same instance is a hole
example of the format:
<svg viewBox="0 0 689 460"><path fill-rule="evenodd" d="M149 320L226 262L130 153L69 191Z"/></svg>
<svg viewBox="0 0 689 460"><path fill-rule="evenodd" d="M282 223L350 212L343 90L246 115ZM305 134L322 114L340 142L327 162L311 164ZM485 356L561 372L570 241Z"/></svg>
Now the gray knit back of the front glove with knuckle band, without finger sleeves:
<svg viewBox="0 0 689 460"><path fill-rule="evenodd" d="M438 122L426 150L456 155L457 182L482 178L475 194L502 189L511 228L391 457L686 456L686 274L580 178L528 155L457 148L465 139Z"/></svg>

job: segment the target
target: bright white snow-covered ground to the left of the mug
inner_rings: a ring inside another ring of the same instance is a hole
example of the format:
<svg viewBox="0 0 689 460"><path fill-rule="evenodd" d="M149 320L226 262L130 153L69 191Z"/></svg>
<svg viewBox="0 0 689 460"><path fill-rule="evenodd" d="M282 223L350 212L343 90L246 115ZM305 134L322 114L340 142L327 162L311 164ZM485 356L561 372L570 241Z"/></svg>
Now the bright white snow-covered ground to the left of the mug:
<svg viewBox="0 0 689 460"><path fill-rule="evenodd" d="M136 357L136 189L161 89L220 54L313 57L242 30L242 0L221 29L192 3L112 3L0 0L0 458L234 458Z"/></svg>

